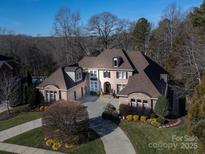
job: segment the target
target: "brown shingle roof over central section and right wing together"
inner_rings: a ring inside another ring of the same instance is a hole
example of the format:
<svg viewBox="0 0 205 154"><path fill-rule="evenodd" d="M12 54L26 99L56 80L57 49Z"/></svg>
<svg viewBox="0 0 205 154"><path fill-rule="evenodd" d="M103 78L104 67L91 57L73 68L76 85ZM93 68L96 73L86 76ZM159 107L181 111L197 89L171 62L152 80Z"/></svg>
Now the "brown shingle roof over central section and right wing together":
<svg viewBox="0 0 205 154"><path fill-rule="evenodd" d="M108 49L97 57L84 57L79 65L83 68L112 69L112 59L114 57L123 59L123 63L117 69L132 69L135 73L134 76L129 78L128 84L119 95L145 92L152 97L158 97L160 94L164 94L166 84L160 79L160 74L167 74L167 72L142 52Z"/></svg>

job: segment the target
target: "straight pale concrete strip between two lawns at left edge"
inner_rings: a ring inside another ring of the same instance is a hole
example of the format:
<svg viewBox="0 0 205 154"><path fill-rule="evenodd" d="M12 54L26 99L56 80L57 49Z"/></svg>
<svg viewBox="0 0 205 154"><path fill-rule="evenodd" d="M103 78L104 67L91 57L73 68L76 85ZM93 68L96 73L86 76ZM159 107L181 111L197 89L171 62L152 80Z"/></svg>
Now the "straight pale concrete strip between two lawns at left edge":
<svg viewBox="0 0 205 154"><path fill-rule="evenodd" d="M37 119L37 120L29 121L24 124L0 131L0 142L41 126L42 126L41 119Z"/></svg>

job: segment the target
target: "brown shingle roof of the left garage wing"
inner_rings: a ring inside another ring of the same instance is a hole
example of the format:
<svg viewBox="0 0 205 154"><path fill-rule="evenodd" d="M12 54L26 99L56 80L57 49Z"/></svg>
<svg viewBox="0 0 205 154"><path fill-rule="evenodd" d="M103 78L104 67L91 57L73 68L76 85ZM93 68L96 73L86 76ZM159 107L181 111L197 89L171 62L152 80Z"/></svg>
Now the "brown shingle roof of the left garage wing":
<svg viewBox="0 0 205 154"><path fill-rule="evenodd" d="M83 74L83 80L74 82L69 75L65 72L65 67L60 67L54 73L52 73L46 80L44 80L38 87L45 87L47 85L55 85L59 89L70 89L85 79Z"/></svg>

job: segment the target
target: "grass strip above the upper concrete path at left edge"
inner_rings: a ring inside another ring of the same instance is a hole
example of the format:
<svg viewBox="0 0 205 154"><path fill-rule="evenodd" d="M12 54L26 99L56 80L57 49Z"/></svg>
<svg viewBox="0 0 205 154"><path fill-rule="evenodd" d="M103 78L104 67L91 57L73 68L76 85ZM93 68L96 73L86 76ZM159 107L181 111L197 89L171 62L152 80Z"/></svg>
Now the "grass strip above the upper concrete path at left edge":
<svg viewBox="0 0 205 154"><path fill-rule="evenodd" d="M0 131L41 118L40 112L22 112L14 118L0 121Z"/></svg>

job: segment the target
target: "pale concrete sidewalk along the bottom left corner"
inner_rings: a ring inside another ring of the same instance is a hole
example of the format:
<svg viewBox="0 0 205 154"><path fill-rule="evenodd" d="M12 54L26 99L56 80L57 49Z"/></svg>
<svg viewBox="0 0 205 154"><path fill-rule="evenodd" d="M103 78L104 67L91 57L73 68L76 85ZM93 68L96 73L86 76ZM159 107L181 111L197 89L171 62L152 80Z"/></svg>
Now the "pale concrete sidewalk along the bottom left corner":
<svg viewBox="0 0 205 154"><path fill-rule="evenodd" d="M39 148L31 148L22 145L15 145L9 143L0 143L0 150L18 154L64 154L62 152L55 152Z"/></svg>

